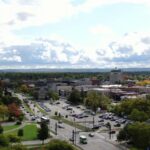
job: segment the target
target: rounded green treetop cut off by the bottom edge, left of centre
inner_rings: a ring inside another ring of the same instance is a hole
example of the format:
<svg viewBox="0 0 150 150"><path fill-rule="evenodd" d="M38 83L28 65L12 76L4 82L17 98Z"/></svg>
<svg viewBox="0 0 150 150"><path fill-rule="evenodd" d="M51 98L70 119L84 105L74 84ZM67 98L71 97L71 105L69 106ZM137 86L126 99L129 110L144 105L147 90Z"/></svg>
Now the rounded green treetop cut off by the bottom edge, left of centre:
<svg viewBox="0 0 150 150"><path fill-rule="evenodd" d="M49 142L46 150L77 150L66 141L52 140Z"/></svg>

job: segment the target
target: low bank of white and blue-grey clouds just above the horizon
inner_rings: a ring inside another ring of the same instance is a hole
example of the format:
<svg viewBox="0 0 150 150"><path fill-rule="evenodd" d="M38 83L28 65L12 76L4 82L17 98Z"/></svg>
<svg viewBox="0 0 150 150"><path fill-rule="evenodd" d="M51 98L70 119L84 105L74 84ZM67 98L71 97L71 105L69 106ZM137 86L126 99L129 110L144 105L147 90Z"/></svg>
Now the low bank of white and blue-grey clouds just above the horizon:
<svg viewBox="0 0 150 150"><path fill-rule="evenodd" d="M129 33L86 53L68 42L39 39L26 45L12 45L0 50L0 68L110 68L150 67L150 33Z"/></svg>

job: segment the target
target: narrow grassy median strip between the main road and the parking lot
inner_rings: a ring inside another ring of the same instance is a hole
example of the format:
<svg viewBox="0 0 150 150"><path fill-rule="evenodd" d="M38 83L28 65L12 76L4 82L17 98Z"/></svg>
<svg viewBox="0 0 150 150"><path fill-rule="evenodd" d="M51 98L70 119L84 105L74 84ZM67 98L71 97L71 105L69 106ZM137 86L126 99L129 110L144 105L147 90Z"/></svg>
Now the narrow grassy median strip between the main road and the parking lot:
<svg viewBox="0 0 150 150"><path fill-rule="evenodd" d="M70 126L73 126L73 127L76 127L77 129L80 129L80 130L82 130L82 131L90 131L90 128L87 128L87 127L85 127L85 126L83 126L83 125L80 125L80 124L78 124L78 123L76 123L76 122L74 122L74 121L70 121L70 120L68 120L68 119L65 119L65 118L63 118L63 117L60 117L60 116L52 116L51 117L52 119L55 119L55 120L62 120L62 122L63 123L66 123L66 124L68 124L68 125L70 125Z"/></svg>

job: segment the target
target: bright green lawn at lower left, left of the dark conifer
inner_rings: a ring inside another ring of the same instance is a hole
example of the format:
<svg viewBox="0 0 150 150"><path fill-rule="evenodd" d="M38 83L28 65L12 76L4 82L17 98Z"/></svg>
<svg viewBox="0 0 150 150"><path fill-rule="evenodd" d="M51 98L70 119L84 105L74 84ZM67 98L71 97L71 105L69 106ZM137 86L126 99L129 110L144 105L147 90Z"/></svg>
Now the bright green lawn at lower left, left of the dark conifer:
<svg viewBox="0 0 150 150"><path fill-rule="evenodd" d="M37 139L37 131L38 131L38 129L37 129L36 124L28 124L23 127L24 135L21 139L23 141L36 140ZM6 133L6 135L9 135L9 134L17 135L17 133L18 133L18 130L15 130L13 132Z"/></svg>

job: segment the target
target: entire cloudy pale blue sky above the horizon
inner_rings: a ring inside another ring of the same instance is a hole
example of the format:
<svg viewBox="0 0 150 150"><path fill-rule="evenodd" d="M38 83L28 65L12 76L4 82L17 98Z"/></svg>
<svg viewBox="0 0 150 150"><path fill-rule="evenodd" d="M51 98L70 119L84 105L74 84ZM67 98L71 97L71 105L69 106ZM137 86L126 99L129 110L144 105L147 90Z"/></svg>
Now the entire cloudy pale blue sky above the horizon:
<svg viewBox="0 0 150 150"><path fill-rule="evenodd" d="M115 67L150 67L150 0L0 0L0 69Z"/></svg>

